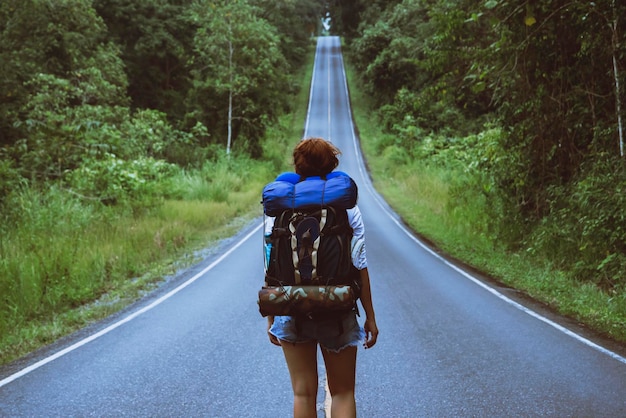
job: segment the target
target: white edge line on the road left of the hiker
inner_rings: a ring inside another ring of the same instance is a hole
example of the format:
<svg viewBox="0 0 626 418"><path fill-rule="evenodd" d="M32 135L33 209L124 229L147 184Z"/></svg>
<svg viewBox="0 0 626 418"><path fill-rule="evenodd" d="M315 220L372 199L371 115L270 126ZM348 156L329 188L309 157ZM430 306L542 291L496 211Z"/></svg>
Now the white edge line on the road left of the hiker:
<svg viewBox="0 0 626 418"><path fill-rule="evenodd" d="M152 308L160 305L161 303L163 303L165 300L171 298L172 296L174 296L176 293L180 292L181 290L183 290L184 288L186 288L187 286L189 286L190 284L192 284L193 282L195 282L196 280L198 280L200 277L202 277L204 274L206 274L208 271L212 270L215 266L217 266L219 263L221 263L226 257L228 257L233 251L235 251L237 248L239 248L241 245L243 245L248 239L250 239L250 237L252 237L254 234L256 234L259 229L261 229L261 227L263 226L263 224L258 225L257 227L254 228L254 230L252 230L252 232L250 232L248 235L246 235L241 241L239 241L236 245L234 245L233 247L231 247L228 251L226 251L224 254L222 254L217 260L215 260L214 262L212 262L210 265L208 265L207 267L204 268L204 270L202 270L201 272L197 273L195 276L193 276L192 278L190 278L189 280L187 280L186 282L182 283L180 286L176 287L175 289L171 290L170 292L166 293L165 295L161 296L160 298L158 298L157 300L155 300L154 302L152 302L151 304L139 309L136 312L133 312L132 314L124 317L123 319L117 321L116 323L106 327L105 329L83 339L78 341L75 344L72 344L71 346L56 352L55 354L46 357L40 361L38 361L37 363L34 363L22 370L20 370L17 373L12 374L9 377L6 377L3 380L0 380L0 387L3 387L11 382L13 382L16 379L19 379L22 376L27 375L28 373L37 370L38 368L45 366L46 364L58 359L59 357L62 357L82 346L84 346L85 344L88 344L100 337L102 337L103 335L108 334L109 332L113 331L116 328L119 328L120 326L124 325L127 322L132 321L133 319L137 318L139 315L142 315L146 312L148 312L149 310L151 310Z"/></svg>

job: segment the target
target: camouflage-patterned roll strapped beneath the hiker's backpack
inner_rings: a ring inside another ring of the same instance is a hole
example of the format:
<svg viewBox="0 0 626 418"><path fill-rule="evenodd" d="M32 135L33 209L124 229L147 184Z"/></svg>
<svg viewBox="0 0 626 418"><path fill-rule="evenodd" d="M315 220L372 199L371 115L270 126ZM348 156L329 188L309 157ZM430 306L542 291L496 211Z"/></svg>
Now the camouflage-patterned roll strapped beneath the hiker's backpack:
<svg viewBox="0 0 626 418"><path fill-rule="evenodd" d="M259 290L259 312L262 316L315 316L346 312L355 307L351 286L271 286Z"/></svg>

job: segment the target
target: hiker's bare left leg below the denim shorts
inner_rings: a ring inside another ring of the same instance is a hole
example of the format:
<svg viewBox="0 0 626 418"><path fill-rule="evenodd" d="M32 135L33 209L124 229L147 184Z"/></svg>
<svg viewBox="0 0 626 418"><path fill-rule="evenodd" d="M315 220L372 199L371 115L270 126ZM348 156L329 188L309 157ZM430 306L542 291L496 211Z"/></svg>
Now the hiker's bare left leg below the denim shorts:
<svg viewBox="0 0 626 418"><path fill-rule="evenodd" d="M293 388L294 418L316 418L317 343L281 341Z"/></svg>

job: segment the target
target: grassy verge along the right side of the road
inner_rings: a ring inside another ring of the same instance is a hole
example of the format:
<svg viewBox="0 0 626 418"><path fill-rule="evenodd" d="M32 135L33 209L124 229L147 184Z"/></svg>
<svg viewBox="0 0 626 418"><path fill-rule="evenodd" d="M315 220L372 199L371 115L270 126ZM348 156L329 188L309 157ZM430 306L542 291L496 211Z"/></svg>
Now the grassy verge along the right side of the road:
<svg viewBox="0 0 626 418"><path fill-rule="evenodd" d="M489 204L452 196L467 174L454 164L429 165L399 156L370 112L368 97L346 65L352 110L374 186L407 224L435 246L554 311L626 342L626 293L606 293L571 279L551 260L524 248L510 251L489 234Z"/></svg>

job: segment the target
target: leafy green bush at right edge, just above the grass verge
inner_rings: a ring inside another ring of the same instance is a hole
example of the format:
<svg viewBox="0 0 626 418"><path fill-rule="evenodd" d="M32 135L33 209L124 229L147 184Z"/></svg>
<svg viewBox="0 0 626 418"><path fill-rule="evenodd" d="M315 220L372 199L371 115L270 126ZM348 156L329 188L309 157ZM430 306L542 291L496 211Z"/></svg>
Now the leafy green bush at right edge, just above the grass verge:
<svg viewBox="0 0 626 418"><path fill-rule="evenodd" d="M550 189L550 213L530 249L581 281L626 289L626 167L599 155L568 186Z"/></svg>

